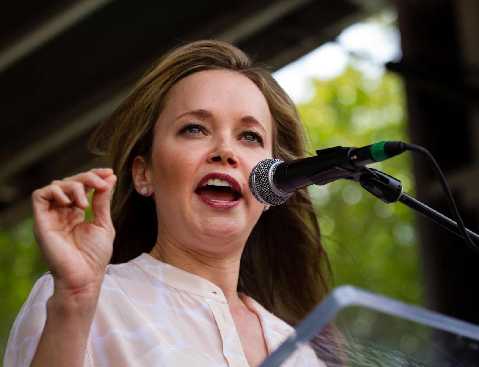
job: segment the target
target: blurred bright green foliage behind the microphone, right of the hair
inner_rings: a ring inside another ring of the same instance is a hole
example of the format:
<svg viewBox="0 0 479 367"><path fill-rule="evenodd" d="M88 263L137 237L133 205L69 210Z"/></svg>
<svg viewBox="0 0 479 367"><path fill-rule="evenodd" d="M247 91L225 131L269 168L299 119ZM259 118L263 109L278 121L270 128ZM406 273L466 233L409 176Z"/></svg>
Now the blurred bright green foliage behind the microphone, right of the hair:
<svg viewBox="0 0 479 367"><path fill-rule="evenodd" d="M298 109L314 150L409 141L402 79L392 72L365 69L363 62L352 59L338 78L313 80L314 97ZM370 167L398 178L404 191L414 195L409 153ZM309 190L320 215L334 286L354 284L421 304L414 212L376 199L356 182L339 180Z"/></svg>

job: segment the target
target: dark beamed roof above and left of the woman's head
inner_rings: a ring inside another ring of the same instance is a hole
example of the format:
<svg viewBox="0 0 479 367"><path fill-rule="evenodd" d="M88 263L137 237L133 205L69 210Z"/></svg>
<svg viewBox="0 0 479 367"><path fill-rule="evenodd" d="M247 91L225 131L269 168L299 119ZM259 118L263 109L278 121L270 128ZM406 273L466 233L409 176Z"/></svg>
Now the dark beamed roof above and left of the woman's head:
<svg viewBox="0 0 479 367"><path fill-rule="evenodd" d="M158 57L216 38L277 69L333 40L382 0L8 1L0 22L0 225L31 192L100 164L95 127Z"/></svg>

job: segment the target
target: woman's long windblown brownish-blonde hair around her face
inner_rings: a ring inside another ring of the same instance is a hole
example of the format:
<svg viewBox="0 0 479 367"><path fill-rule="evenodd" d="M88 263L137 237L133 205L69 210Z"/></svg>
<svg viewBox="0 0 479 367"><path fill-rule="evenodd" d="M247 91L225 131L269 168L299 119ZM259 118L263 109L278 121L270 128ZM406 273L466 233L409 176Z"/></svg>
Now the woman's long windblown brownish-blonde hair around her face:
<svg viewBox="0 0 479 367"><path fill-rule="evenodd" d="M217 69L240 73L261 89L274 121L274 158L286 161L305 155L297 109L267 70L224 42L198 41L172 49L148 69L90 140L90 149L105 155L118 176L112 198L116 230L112 263L149 252L157 240L155 204L134 190L131 169L135 156L151 155L153 127L166 93L188 75ZM303 189L262 214L241 257L238 291L296 324L323 298L330 276L316 213Z"/></svg>

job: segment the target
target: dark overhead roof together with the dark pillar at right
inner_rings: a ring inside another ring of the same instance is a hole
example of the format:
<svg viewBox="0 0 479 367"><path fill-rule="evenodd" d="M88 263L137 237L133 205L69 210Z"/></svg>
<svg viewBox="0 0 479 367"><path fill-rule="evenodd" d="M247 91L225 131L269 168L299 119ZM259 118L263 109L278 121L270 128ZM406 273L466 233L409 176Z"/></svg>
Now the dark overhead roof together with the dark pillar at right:
<svg viewBox="0 0 479 367"><path fill-rule="evenodd" d="M399 11L411 139L436 156L468 227L478 229L479 1L4 1L0 7L0 226L30 211L31 192L101 164L86 149L98 124L166 50L216 38L273 70L387 4ZM418 198L448 214L425 160ZM479 324L478 256L421 222L432 308Z"/></svg>

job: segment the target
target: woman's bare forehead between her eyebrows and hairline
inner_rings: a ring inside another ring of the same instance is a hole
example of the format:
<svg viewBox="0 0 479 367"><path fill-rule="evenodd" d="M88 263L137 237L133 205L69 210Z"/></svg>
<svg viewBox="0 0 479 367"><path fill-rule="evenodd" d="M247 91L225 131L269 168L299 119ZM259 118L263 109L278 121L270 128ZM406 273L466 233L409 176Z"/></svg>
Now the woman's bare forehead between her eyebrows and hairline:
<svg viewBox="0 0 479 367"><path fill-rule="evenodd" d="M181 79L168 92L162 122L186 111L211 111L214 117L253 116L271 132L272 117L262 91L249 78L228 70L200 71Z"/></svg>

